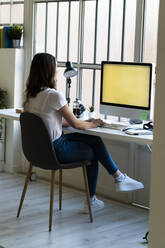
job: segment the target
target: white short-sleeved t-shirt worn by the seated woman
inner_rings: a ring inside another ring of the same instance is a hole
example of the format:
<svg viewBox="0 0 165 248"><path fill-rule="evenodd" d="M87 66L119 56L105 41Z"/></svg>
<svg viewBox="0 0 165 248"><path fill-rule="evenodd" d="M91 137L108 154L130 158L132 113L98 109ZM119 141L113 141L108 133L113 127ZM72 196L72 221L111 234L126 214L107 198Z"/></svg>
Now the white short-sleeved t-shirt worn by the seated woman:
<svg viewBox="0 0 165 248"><path fill-rule="evenodd" d="M43 119L54 141L62 134L62 116L58 110L66 104L65 97L59 91L46 88L36 97L29 98L25 111L37 114Z"/></svg>

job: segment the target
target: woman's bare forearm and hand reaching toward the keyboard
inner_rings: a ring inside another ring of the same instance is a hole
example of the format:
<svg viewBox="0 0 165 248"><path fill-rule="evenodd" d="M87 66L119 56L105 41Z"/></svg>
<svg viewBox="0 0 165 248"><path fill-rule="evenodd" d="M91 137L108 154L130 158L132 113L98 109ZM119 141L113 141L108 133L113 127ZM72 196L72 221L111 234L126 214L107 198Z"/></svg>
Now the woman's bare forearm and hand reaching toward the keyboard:
<svg viewBox="0 0 165 248"><path fill-rule="evenodd" d="M77 119L74 114L71 112L68 105L65 105L59 110L60 114L64 117L66 122L72 126L73 128L80 129L80 130L86 130L89 128L98 127L104 124L104 122L101 119L92 119L89 121L81 121Z"/></svg>

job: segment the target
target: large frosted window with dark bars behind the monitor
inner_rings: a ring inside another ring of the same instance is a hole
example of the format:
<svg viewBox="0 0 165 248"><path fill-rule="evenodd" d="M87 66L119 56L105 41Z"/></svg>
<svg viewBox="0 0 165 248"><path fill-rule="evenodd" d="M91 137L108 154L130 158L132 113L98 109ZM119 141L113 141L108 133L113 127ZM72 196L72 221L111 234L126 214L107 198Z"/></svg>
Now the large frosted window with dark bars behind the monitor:
<svg viewBox="0 0 165 248"><path fill-rule="evenodd" d="M159 0L35 0L33 53L56 56L64 94L72 61L71 103L77 97L99 114L102 60L156 63L158 9Z"/></svg>

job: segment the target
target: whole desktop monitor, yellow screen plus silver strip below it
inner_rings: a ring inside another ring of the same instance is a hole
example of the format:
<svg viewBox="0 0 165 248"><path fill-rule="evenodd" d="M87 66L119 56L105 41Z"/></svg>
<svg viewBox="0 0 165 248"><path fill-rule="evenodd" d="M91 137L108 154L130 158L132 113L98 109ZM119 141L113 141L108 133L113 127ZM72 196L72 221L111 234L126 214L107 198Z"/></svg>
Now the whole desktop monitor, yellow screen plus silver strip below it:
<svg viewBox="0 0 165 248"><path fill-rule="evenodd" d="M149 119L151 81L150 63L102 61L100 113Z"/></svg>

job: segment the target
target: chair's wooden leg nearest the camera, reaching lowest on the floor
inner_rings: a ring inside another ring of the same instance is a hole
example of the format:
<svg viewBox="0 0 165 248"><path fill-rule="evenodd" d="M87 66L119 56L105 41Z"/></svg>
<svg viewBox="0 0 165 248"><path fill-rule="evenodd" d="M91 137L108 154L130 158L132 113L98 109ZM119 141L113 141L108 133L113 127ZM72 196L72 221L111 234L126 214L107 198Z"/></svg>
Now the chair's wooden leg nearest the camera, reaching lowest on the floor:
<svg viewBox="0 0 165 248"><path fill-rule="evenodd" d="M49 232L52 230L52 217L53 217L53 202L54 202L54 181L55 170L51 171L51 183L50 183L50 208L49 208Z"/></svg>

